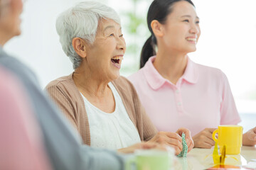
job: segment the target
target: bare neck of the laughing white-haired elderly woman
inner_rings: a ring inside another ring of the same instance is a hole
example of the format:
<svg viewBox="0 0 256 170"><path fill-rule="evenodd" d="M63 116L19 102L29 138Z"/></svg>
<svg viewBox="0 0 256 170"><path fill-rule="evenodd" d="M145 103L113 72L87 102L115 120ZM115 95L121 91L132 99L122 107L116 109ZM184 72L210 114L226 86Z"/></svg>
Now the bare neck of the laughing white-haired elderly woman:
<svg viewBox="0 0 256 170"><path fill-rule="evenodd" d="M92 72L83 62L78 69L75 69L73 80L75 86L85 96L104 98L110 92L110 88L107 86L110 80L104 79L99 74Z"/></svg>

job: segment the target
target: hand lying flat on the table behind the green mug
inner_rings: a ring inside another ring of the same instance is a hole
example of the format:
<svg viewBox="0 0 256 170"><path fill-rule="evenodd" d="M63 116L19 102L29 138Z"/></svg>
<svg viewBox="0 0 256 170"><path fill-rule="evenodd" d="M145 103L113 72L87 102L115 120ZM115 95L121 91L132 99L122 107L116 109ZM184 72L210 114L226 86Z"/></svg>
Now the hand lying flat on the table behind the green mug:
<svg viewBox="0 0 256 170"><path fill-rule="evenodd" d="M159 145L156 142L142 142L137 143L129 147L124 147L122 149L118 149L117 152L124 153L124 154L130 154L133 153L136 149L160 149L160 150L166 150L166 147L164 145Z"/></svg>

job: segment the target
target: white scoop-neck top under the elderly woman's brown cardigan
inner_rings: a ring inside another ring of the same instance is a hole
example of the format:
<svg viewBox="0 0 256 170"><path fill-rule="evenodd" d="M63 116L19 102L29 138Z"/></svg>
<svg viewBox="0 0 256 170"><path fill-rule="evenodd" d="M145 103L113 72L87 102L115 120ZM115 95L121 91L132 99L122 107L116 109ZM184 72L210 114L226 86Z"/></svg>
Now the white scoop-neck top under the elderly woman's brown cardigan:
<svg viewBox="0 0 256 170"><path fill-rule="evenodd" d="M112 83L108 86L114 95L113 113L101 111L82 95L90 125L91 147L120 149L141 142L139 132L129 118L117 90Z"/></svg>

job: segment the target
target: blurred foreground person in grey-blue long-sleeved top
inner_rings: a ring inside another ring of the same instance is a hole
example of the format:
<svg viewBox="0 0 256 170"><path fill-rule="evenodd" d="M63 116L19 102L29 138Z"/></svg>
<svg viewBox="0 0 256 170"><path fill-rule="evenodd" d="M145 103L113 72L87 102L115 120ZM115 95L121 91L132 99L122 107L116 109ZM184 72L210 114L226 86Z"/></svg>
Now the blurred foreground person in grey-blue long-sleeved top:
<svg viewBox="0 0 256 170"><path fill-rule="evenodd" d="M28 96L28 101L31 102L28 104L31 106L32 113L34 113L38 121L39 128L42 132L42 142L46 148L46 154L48 155L49 162L53 169L124 169L124 156L111 150L97 149L82 145L82 140L78 133L40 89L38 80L31 69L16 60L16 58L6 54L2 49L11 38L21 34L21 20L19 17L22 9L22 0L0 0L0 66L17 77L23 88L25 88L23 93ZM19 90L17 89L17 91ZM22 100L16 102L23 102ZM6 109L14 109L10 108L13 106L9 107L6 105L5 107L7 107ZM1 120L4 121L4 119ZM28 125L28 130L31 130L30 128L33 127L29 127ZM33 135L33 132L31 135ZM137 148L141 149L163 149L156 143L139 143L137 145L139 145ZM22 152L22 150L20 151ZM24 151L23 154L26 155L27 152ZM36 150L34 152L36 152ZM33 161L33 159L31 159L31 161ZM37 164L37 162L34 163ZM46 166L42 166L42 168L43 167Z"/></svg>

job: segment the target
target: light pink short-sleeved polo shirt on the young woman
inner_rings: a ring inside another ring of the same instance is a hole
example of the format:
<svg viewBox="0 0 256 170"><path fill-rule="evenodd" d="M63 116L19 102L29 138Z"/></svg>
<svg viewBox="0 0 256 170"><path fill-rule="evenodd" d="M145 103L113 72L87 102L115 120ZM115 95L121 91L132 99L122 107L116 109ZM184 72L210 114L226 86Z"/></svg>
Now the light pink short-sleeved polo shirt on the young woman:
<svg viewBox="0 0 256 170"><path fill-rule="evenodd" d="M154 59L155 56L150 57L128 79L159 131L176 132L183 127L193 136L205 128L240 122L228 79L220 69L188 58L186 70L175 85L156 71Z"/></svg>

